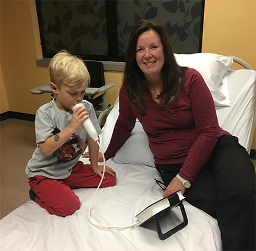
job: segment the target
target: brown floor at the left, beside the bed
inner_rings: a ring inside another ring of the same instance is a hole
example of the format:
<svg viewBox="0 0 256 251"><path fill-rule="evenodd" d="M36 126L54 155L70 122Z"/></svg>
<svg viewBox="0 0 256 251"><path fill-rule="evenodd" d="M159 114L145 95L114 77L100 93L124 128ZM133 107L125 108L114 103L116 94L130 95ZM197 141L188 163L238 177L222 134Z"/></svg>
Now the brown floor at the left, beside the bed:
<svg viewBox="0 0 256 251"><path fill-rule="evenodd" d="M29 200L25 168L35 150L34 122L0 122L0 219Z"/></svg>

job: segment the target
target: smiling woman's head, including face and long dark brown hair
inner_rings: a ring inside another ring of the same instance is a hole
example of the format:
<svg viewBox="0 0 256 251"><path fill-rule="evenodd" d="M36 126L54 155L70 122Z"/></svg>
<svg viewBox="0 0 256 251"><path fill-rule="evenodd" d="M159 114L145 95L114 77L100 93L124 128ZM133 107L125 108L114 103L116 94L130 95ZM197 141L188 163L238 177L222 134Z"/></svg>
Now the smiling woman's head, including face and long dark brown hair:
<svg viewBox="0 0 256 251"><path fill-rule="evenodd" d="M161 106L170 97L175 102L186 69L177 64L165 27L152 20L135 24L127 46L123 83L138 111L145 112L143 89Z"/></svg>

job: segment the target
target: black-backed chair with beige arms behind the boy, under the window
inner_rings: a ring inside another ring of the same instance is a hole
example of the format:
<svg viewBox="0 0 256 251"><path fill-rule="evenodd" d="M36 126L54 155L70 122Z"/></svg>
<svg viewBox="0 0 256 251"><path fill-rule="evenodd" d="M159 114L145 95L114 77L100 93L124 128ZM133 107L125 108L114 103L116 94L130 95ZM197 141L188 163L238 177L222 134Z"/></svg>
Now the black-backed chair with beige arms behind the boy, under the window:
<svg viewBox="0 0 256 251"><path fill-rule="evenodd" d="M113 106L107 104L106 91L115 84L105 84L104 67L100 61L84 61L87 66L88 72L91 76L91 82L85 90L84 99L93 104L96 115L99 115L99 125L105 123L107 114L112 110ZM30 92L34 95L43 93L52 93L49 83L31 89Z"/></svg>

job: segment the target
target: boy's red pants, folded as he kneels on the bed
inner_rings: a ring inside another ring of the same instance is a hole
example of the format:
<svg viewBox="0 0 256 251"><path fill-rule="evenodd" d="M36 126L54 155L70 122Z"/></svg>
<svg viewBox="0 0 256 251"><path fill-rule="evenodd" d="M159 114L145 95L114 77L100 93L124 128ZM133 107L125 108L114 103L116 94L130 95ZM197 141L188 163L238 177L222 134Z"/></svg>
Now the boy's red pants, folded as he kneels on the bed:
<svg viewBox="0 0 256 251"><path fill-rule="evenodd" d="M98 187L101 177L91 170L91 165L78 162L66 179L49 179L44 176L29 178L30 188L37 195L35 202L51 215L68 216L80 208L78 196L71 190L82 187ZM116 177L105 173L101 187L116 184Z"/></svg>

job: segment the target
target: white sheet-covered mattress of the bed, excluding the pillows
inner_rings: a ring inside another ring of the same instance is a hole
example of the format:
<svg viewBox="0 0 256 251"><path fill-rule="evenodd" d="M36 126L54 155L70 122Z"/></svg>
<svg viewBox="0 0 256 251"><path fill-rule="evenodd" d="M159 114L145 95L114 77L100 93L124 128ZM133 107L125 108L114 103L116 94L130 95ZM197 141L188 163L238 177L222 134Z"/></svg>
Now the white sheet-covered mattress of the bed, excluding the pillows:
<svg viewBox="0 0 256 251"><path fill-rule="evenodd" d="M235 80L235 83L233 81ZM216 108L219 123L224 129L239 137L249 147L254 120L255 72L241 70L227 76L230 107ZM243 84L244 81L244 84ZM241 82L241 83L240 83ZM111 136L116 109L108 116L104 129L105 139ZM102 140L102 144L107 142ZM106 146L104 146L105 148ZM82 159L88 163L87 159ZM117 164L108 160L107 165L117 173L115 187L100 188L94 199L91 219L103 225L129 225L135 216L158 199L162 190L154 182L160 179L155 168L146 165ZM88 208L96 188L74 190L81 207L72 216L61 218L49 213L33 201L28 201L0 221L1 251L41 250L195 250L220 251L221 236L216 219L184 202L188 225L176 234L161 241L153 223L147 228L101 230L88 222ZM166 215L168 216L168 215ZM180 221L179 207L171 211L166 230Z"/></svg>

